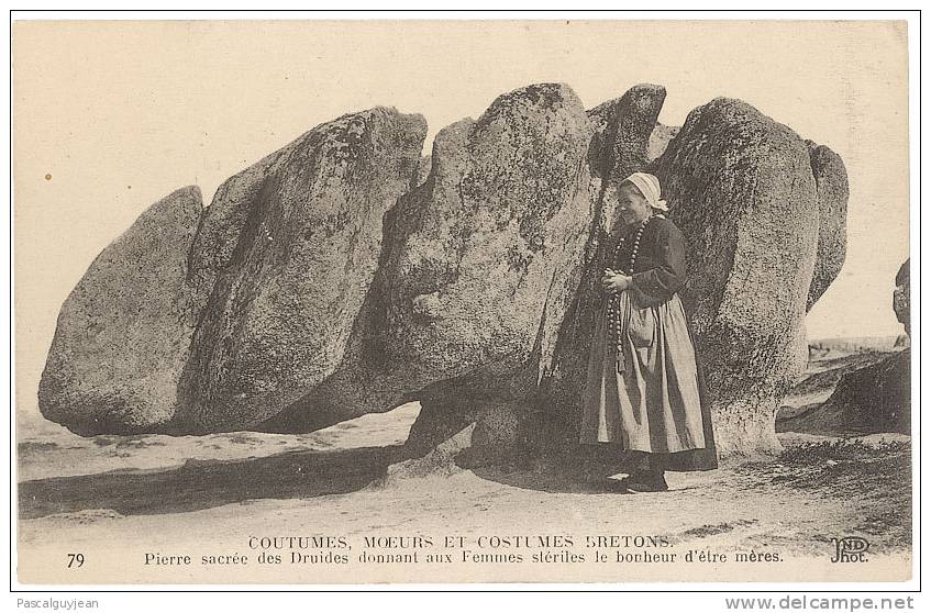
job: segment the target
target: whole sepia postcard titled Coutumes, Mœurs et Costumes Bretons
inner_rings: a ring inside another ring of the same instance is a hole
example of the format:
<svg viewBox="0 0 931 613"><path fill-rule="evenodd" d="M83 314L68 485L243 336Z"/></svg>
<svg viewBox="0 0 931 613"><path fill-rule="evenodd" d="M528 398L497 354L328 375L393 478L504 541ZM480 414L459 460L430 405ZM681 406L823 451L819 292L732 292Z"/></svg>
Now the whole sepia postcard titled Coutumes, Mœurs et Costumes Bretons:
<svg viewBox="0 0 931 613"><path fill-rule="evenodd" d="M913 36L14 19L15 580L911 580Z"/></svg>

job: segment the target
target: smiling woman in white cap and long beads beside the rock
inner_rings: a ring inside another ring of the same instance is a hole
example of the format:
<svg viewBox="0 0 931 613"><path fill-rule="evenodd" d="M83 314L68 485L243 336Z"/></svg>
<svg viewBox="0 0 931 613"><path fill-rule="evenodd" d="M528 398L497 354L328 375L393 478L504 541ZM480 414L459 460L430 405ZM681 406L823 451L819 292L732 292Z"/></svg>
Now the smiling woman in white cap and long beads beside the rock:
<svg viewBox="0 0 931 613"><path fill-rule="evenodd" d="M710 411L691 331L678 293L685 238L663 213L660 180L634 172L617 193L601 311L588 363L580 442L635 452L641 466L622 483L665 491L666 470L718 467Z"/></svg>

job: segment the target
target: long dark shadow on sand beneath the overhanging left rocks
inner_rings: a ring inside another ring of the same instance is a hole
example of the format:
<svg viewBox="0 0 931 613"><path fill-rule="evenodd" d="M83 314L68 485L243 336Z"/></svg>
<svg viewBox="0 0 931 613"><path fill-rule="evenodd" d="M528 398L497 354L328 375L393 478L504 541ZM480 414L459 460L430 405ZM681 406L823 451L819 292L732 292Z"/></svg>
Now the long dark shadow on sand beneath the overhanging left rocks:
<svg viewBox="0 0 931 613"><path fill-rule="evenodd" d="M123 515L181 513L255 499L306 499L359 490L407 456L402 445L290 452L244 460L188 460L157 471L113 471L19 484L20 519L91 509Z"/></svg>

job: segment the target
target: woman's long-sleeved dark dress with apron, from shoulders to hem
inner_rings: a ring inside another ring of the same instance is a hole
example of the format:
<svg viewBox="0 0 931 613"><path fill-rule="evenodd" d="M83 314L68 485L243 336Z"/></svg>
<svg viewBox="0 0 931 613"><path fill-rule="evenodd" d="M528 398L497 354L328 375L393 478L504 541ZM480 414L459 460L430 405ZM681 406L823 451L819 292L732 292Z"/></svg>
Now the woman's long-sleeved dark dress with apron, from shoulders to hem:
<svg viewBox="0 0 931 613"><path fill-rule="evenodd" d="M630 265L635 230L619 237L616 270ZM710 470L718 460L708 394L677 293L686 279L685 250L685 237L672 221L655 215L646 223L633 286L618 297L619 343L608 322L611 297L602 297L579 441L664 454L668 470Z"/></svg>

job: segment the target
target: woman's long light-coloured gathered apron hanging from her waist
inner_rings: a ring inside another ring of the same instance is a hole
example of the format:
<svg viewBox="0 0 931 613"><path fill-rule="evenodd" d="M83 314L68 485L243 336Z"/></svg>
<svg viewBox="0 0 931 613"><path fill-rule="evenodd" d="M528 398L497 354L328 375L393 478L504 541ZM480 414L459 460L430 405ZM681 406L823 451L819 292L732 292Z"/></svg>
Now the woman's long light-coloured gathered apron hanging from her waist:
<svg viewBox="0 0 931 613"><path fill-rule="evenodd" d="M711 461L717 466L710 422L702 420L695 347L678 294L640 306L632 291L620 293L620 368L608 332L608 300L607 296L601 300L589 354L579 441L670 454L707 446L712 447ZM707 468L713 466L684 469Z"/></svg>

